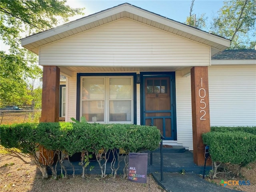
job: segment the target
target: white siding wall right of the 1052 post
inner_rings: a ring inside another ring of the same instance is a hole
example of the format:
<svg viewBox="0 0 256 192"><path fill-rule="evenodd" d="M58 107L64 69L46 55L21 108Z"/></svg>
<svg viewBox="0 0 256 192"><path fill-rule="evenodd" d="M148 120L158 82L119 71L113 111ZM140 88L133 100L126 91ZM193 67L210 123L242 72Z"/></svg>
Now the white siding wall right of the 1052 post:
<svg viewBox="0 0 256 192"><path fill-rule="evenodd" d="M208 67L211 126L256 126L256 65Z"/></svg>

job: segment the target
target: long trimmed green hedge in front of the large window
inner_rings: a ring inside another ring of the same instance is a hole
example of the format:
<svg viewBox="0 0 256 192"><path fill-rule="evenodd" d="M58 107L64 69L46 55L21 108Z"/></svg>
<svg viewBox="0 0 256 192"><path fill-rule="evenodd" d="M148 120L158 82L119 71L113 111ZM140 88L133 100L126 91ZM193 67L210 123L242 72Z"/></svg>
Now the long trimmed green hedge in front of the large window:
<svg viewBox="0 0 256 192"><path fill-rule="evenodd" d="M0 126L0 143L6 148L27 148L40 144L49 150L65 150L69 155L86 150L123 148L129 152L155 150L160 131L153 126L133 124L90 124L87 122L13 124Z"/></svg>

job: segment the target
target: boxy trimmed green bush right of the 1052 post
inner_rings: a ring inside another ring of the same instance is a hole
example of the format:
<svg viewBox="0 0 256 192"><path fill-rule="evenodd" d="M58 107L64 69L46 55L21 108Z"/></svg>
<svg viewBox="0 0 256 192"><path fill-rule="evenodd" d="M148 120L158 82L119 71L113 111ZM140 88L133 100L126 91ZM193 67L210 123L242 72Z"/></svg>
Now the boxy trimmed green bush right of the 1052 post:
<svg viewBox="0 0 256 192"><path fill-rule="evenodd" d="M210 146L214 162L245 166L256 160L256 135L246 132L208 132L202 135L204 144Z"/></svg>

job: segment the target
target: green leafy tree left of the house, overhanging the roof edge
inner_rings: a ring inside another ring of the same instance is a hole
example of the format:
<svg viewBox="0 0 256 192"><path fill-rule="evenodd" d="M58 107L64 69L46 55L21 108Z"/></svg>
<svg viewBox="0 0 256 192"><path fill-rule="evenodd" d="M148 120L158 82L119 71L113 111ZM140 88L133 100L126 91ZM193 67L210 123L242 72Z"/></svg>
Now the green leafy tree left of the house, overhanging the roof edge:
<svg viewBox="0 0 256 192"><path fill-rule="evenodd" d="M0 104L30 99L27 82L42 75L36 54L21 48L20 39L67 22L83 10L71 8L66 0L0 0L0 40L9 48L0 51Z"/></svg>

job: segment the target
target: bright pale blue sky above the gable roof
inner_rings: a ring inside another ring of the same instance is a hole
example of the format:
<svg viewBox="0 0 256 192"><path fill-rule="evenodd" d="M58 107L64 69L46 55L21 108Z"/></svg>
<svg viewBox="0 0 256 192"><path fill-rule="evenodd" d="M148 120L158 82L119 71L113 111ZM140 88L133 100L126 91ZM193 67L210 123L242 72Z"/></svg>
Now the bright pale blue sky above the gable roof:
<svg viewBox="0 0 256 192"><path fill-rule="evenodd" d="M161 16L184 23L189 16L191 0L67 0L72 8L85 8L84 15L70 18L70 21L112 8L114 6L129 3L142 9L154 12ZM196 17L206 14L208 20L217 16L217 11L223 6L222 0L195 0L192 14ZM204 29L209 32L209 30ZM25 36L24 36L25 37ZM22 37L22 38L24 38ZM8 46L0 41L0 50L8 50Z"/></svg>

